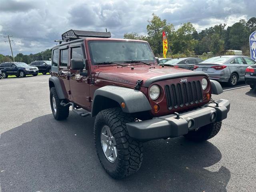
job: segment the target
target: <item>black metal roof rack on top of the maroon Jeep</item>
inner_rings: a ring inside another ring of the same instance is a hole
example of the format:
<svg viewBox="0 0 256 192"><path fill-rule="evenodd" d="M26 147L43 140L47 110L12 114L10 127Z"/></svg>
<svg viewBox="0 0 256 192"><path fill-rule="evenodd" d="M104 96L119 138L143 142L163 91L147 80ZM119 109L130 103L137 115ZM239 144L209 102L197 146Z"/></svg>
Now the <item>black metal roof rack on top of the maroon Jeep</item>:
<svg viewBox="0 0 256 192"><path fill-rule="evenodd" d="M80 31L80 30L68 30L61 35L62 40L58 41L71 41L79 38L85 37L100 37L100 38L110 38L110 32L96 32L96 31Z"/></svg>

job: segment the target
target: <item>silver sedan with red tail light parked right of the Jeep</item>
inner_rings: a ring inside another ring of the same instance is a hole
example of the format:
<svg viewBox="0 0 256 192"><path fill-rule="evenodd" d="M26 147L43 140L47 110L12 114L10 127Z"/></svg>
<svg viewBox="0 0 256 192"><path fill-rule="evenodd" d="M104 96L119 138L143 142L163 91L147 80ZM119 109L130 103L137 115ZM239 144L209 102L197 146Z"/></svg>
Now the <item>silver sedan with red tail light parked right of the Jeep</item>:
<svg viewBox="0 0 256 192"><path fill-rule="evenodd" d="M194 71L207 73L212 80L228 82L235 86L244 81L245 70L256 62L246 56L225 55L212 57L194 66Z"/></svg>

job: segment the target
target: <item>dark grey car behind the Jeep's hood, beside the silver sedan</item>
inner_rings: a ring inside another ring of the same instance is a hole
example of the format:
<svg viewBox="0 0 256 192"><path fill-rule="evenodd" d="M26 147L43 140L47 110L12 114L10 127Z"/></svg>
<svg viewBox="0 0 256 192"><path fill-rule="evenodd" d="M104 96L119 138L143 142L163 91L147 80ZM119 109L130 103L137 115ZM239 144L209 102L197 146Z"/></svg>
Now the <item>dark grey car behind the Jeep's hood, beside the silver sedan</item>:
<svg viewBox="0 0 256 192"><path fill-rule="evenodd" d="M164 63L165 66L173 66L183 69L194 70L194 65L202 62L200 58L188 57L172 59ZM160 64L161 65L161 64Z"/></svg>

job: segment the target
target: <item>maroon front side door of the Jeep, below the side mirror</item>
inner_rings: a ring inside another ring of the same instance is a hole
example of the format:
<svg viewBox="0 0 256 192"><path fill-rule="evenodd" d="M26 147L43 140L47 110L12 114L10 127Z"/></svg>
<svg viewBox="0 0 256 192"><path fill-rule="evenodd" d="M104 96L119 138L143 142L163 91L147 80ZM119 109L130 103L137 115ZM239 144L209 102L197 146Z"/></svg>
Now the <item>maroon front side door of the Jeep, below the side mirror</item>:
<svg viewBox="0 0 256 192"><path fill-rule="evenodd" d="M70 59L82 59L86 66L86 55L82 43L70 45ZM82 69L81 69L82 70ZM86 107L90 107L89 77L80 76L80 70L72 70L70 66L71 100Z"/></svg>

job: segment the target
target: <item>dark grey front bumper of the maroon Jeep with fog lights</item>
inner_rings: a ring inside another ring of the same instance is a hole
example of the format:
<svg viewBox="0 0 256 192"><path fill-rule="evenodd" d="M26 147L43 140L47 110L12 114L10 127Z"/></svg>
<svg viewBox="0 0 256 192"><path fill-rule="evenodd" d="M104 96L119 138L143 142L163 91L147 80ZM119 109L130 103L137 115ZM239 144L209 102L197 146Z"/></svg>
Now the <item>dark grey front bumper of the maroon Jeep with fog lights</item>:
<svg viewBox="0 0 256 192"><path fill-rule="evenodd" d="M180 114L179 119L176 114L170 114L150 120L127 123L127 130L130 137L137 140L153 140L185 135L190 130L221 121L227 117L230 102L224 99L216 102L218 107L216 103L208 103L195 110ZM192 124L190 128L188 127L189 122Z"/></svg>

